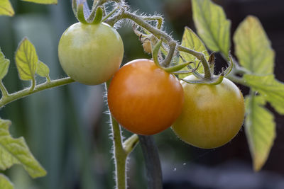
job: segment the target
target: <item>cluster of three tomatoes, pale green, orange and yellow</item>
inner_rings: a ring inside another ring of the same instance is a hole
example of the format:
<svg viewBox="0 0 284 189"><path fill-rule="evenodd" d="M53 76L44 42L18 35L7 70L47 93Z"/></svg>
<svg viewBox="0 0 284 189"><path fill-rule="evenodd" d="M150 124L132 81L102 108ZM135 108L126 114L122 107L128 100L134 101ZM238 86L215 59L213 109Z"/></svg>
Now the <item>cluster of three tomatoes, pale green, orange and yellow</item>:
<svg viewBox="0 0 284 189"><path fill-rule="evenodd" d="M75 23L58 46L60 64L75 81L96 85L113 76L109 110L126 130L148 135L173 125L180 139L200 148L220 147L239 132L244 98L231 81L180 84L149 59L136 59L119 69L123 54L119 33L105 23Z"/></svg>

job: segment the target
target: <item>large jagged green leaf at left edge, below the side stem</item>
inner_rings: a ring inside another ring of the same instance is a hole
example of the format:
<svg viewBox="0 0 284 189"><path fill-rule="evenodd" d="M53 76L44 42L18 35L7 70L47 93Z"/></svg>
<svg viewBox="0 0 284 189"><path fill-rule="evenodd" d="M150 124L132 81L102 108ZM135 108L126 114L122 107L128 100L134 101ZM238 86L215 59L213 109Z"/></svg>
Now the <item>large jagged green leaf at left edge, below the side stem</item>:
<svg viewBox="0 0 284 189"><path fill-rule="evenodd" d="M10 125L11 121L0 119L0 170L21 164L32 178L45 176L45 169L35 160L23 137L11 137Z"/></svg>

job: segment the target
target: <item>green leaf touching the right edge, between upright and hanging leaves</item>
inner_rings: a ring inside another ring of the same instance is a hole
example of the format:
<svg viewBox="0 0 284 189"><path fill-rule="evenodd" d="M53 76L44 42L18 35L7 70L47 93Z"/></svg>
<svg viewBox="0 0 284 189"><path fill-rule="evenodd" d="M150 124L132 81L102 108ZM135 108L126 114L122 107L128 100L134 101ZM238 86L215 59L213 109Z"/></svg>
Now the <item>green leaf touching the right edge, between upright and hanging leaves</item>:
<svg viewBox="0 0 284 189"><path fill-rule="evenodd" d="M284 115L284 84L277 81L274 75L255 76L244 75L244 81L251 86L254 91L263 95L278 113Z"/></svg>

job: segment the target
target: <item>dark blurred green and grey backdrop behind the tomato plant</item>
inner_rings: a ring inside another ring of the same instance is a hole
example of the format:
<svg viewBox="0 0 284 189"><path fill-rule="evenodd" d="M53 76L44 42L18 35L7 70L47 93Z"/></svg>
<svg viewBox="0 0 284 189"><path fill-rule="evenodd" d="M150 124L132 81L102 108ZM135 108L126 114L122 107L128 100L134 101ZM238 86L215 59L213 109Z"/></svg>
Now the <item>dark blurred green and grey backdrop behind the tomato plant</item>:
<svg viewBox="0 0 284 189"><path fill-rule="evenodd" d="M193 30L190 0L129 0L132 10L161 13L165 30L181 40L185 26ZM276 78L284 81L284 1L219 0L231 20L231 33L249 14L257 16L276 52ZM11 0L16 15L0 16L0 47L11 59L4 78L8 91L18 91L28 83L18 79L14 52L18 42L28 37L41 61L50 67L51 79L65 76L58 62L58 41L64 30L77 22L70 1L58 5L38 5ZM90 2L89 2L90 3ZM124 40L124 63L136 58L150 58L143 53L131 25L119 29ZM217 57L218 69L225 65ZM40 81L40 78L38 78ZM44 81L44 79L41 79ZM244 94L247 88L240 86ZM48 171L44 178L31 179L21 166L6 171L16 189L93 189L114 188L114 165L109 139L104 85L70 84L35 93L6 105L0 117L13 122L13 137L25 137L33 155ZM273 108L267 105L273 112ZM183 188L284 188L284 118L275 113L277 137L266 165L253 173L244 129L224 147L197 149L181 142L168 129L156 134L163 169L165 189ZM130 133L124 131L125 136ZM129 159L129 188L146 188L146 173L141 147Z"/></svg>

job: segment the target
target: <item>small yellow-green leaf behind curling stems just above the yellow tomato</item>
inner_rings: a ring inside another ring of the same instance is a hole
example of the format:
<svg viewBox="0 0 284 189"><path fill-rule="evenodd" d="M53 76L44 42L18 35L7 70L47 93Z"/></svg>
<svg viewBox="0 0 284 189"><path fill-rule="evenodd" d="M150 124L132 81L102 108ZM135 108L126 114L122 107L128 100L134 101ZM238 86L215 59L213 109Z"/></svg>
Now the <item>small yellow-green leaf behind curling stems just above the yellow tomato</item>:
<svg viewBox="0 0 284 189"><path fill-rule="evenodd" d="M200 38L198 38L198 36L190 28L187 28L187 27L185 28L185 31L182 35L182 44L181 45L183 47L187 47L187 48L195 50L197 52L202 52L205 55L206 59L209 58L209 54L208 54L206 47L204 46L202 40L200 40ZM200 62L199 59L197 59L195 56L190 55L188 53L180 52L180 55L187 62L195 62L196 66ZM180 64L181 63L182 63L182 59L180 59ZM187 68L182 69L182 70L187 70ZM200 67L199 67L199 69L197 69L197 71L199 73L203 73L202 64L200 64ZM190 74L180 74L179 77L185 78L188 75L190 75Z"/></svg>

